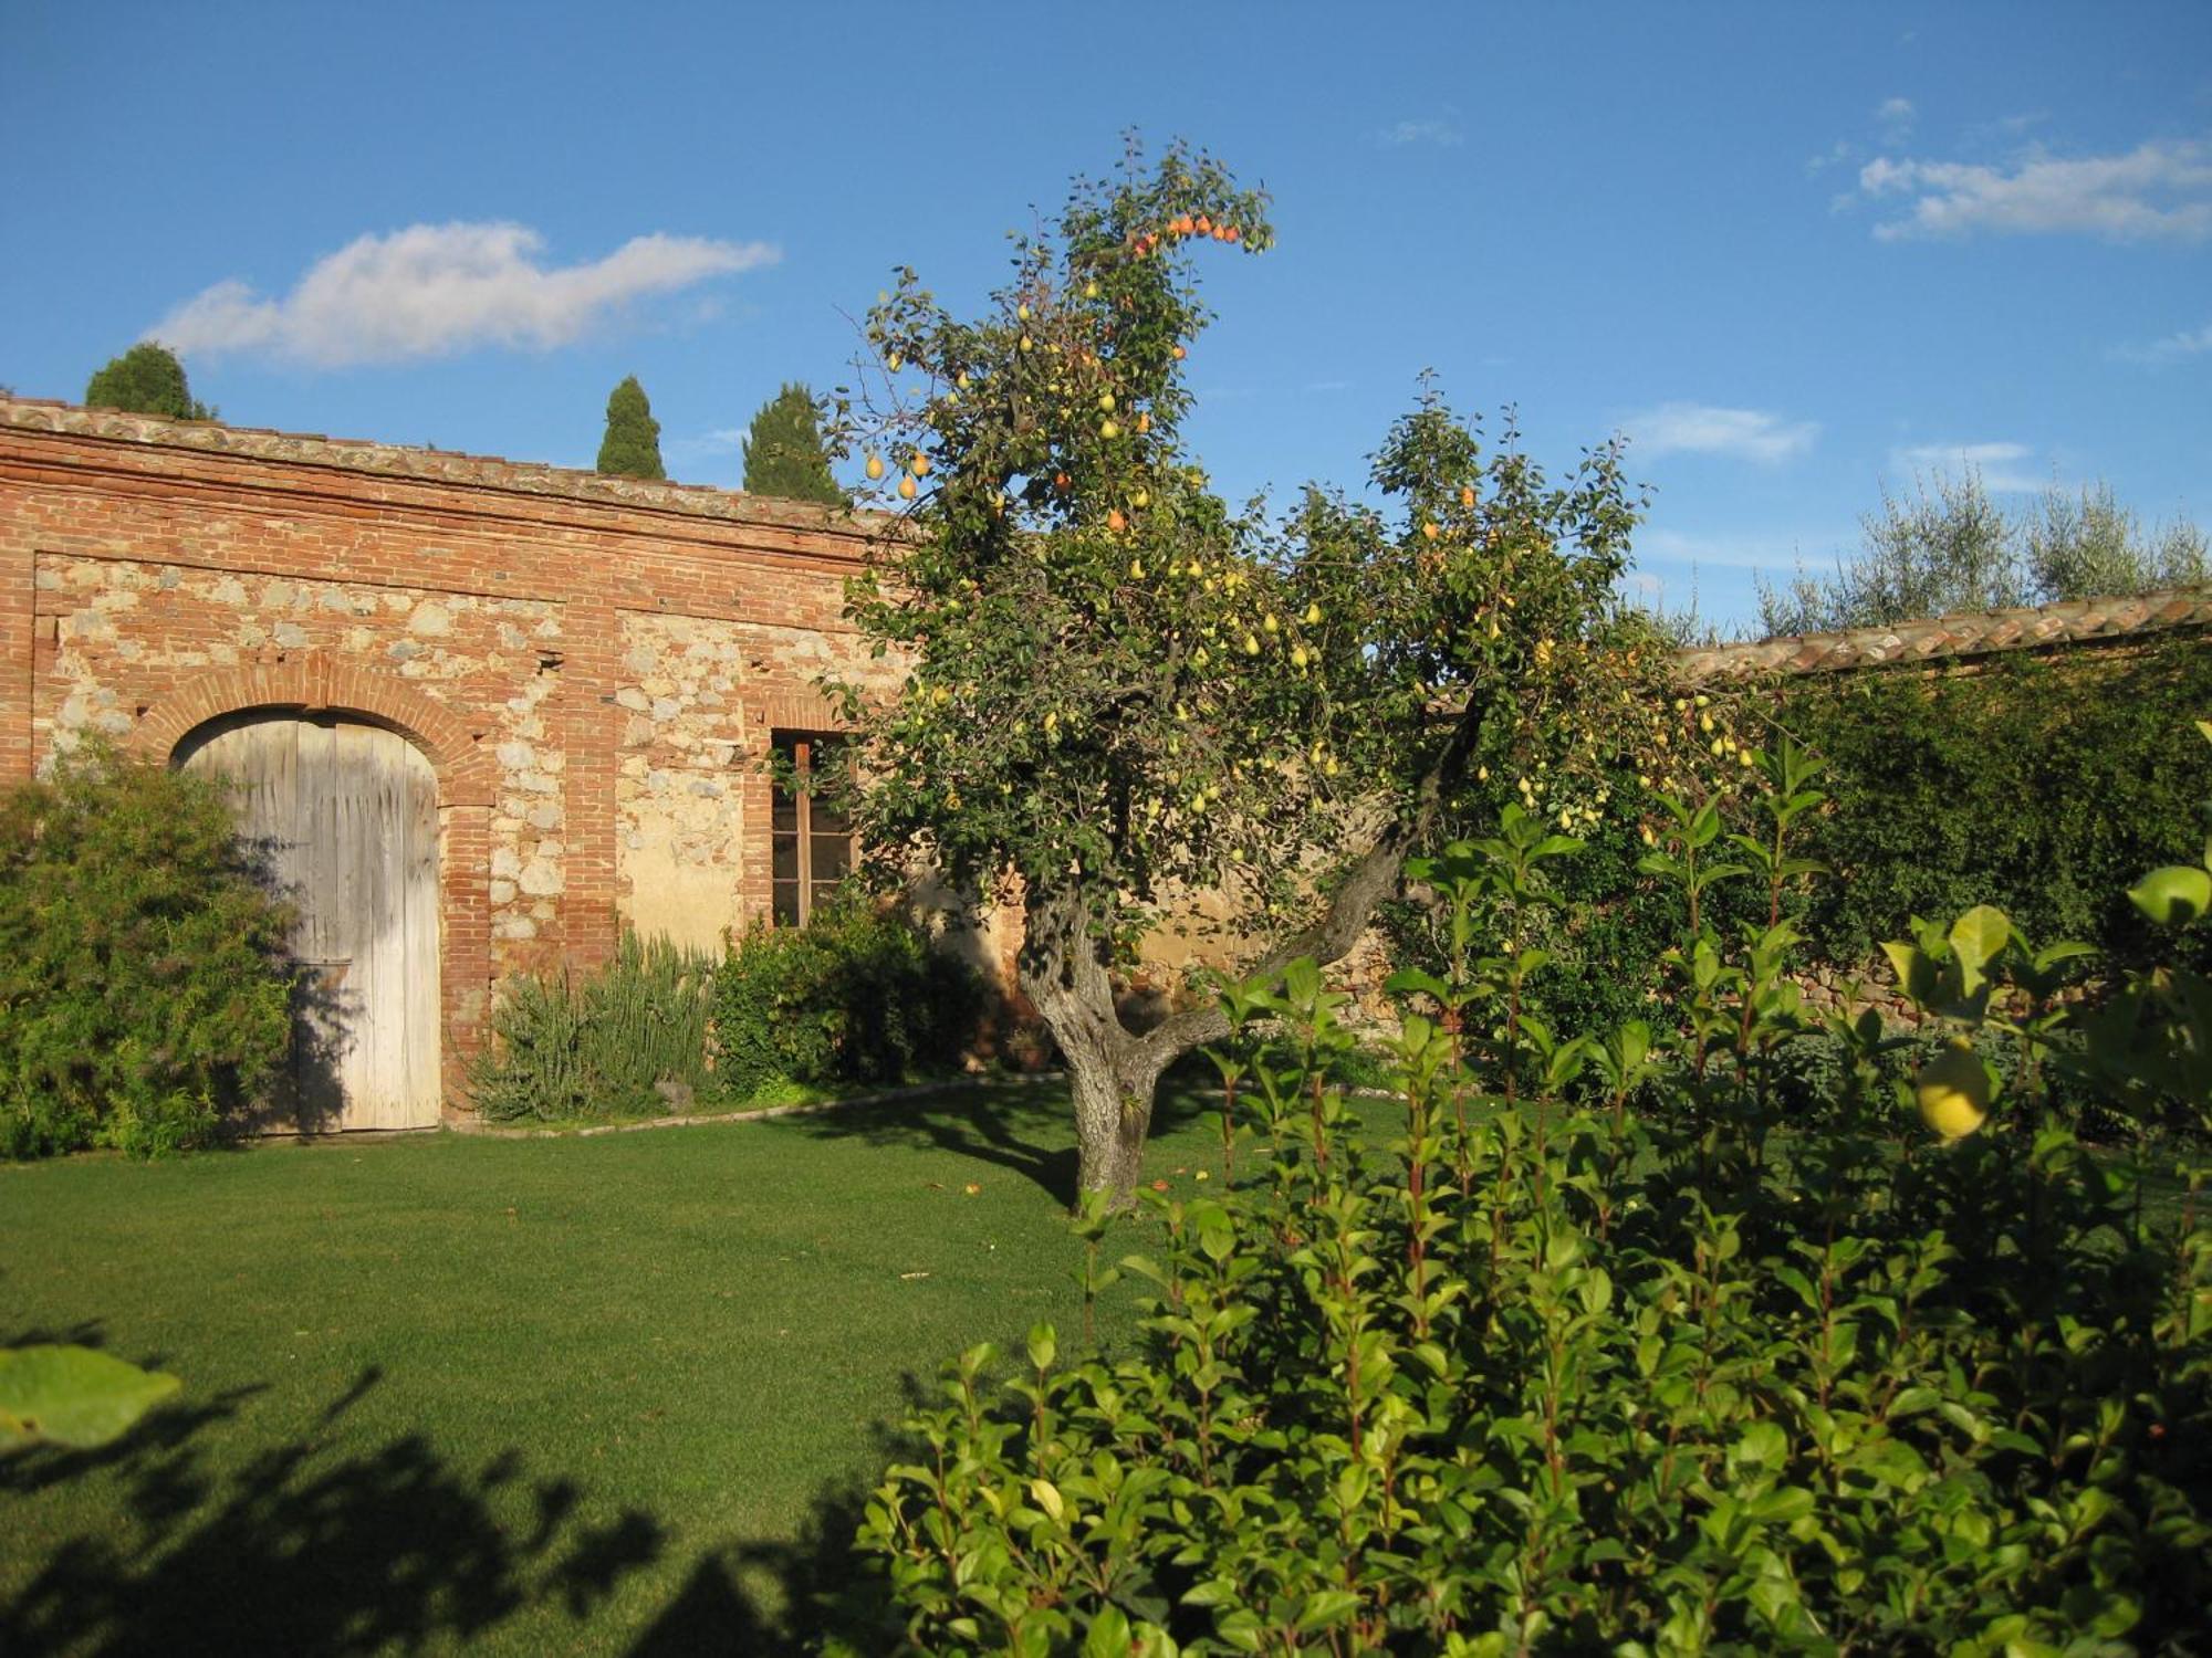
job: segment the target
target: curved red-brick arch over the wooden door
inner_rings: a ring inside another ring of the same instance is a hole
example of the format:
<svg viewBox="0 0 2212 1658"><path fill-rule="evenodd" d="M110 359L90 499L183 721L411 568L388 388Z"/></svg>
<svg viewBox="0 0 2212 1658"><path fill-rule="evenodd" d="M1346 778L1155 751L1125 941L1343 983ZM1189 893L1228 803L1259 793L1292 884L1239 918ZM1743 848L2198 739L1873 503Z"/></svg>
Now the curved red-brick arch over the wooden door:
<svg viewBox="0 0 2212 1658"><path fill-rule="evenodd" d="M139 716L131 747L166 760L190 732L250 707L363 714L429 756L438 774L440 807L489 807L493 800L491 756L449 707L403 679L332 661L321 650L259 668L212 668L186 679L173 696Z"/></svg>

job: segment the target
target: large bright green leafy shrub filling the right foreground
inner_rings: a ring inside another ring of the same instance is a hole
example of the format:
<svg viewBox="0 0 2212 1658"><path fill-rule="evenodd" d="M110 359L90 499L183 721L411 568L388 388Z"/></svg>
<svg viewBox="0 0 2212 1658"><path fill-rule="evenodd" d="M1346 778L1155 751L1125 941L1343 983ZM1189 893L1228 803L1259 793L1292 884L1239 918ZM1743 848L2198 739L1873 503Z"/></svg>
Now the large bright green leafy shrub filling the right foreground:
<svg viewBox="0 0 2212 1658"><path fill-rule="evenodd" d="M2039 1070L2070 1037L2117 1103L2212 1125L2212 982L2130 973L2079 1010L2064 953L1975 909L1887 948L1931 1019L2015 1048L2017 1083L1991 1105L1951 1054L1916 1094L1878 1028L1840 1026L1832 1110L1783 1121L1774 1061L1816 1028L1794 928L1723 935L1694 902L1743 882L1774 915L1812 875L1787 853L1820 805L1807 758L1754 767L1770 842L1674 800L1646 858L1692 898L1652 1019L1568 1037L1526 1012L1546 962L1517 933L1568 838L1509 811L1418 871L1447 973L1396 979L1425 1012L1387 1145L1327 1083L1347 1037L1310 962L1228 993L1223 1114L1263 1172L1146 1198L1164 1240L1121 1262L1148 1284L1135 1351L1071 1360L1040 1324L1002 1384L989 1346L949 1368L860 1528L876 1643L2190 1649L2212 1167L2090 1156ZM2132 898L2188 926L2212 871ZM1093 1256L1106 1227L1077 1218Z"/></svg>

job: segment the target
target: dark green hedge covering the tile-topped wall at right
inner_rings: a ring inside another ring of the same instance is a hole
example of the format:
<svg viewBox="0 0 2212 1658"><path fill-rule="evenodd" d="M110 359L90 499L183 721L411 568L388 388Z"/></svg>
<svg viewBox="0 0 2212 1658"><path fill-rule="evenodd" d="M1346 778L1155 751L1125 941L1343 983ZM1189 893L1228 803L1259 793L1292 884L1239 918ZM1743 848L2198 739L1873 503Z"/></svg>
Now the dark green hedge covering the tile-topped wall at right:
<svg viewBox="0 0 2212 1658"><path fill-rule="evenodd" d="M1805 851L1840 880L1792 893L1785 911L1812 959L1869 984L1889 984L1880 942L1907 937L1913 915L1984 898L2037 944L2081 940L2106 970L2137 966L2150 937L2126 886L2194 862L2212 831L2212 747L2177 741L2212 718L2212 643L2199 634L2126 654L2015 652L1969 672L1863 670L1717 694L1741 703L1732 723L1747 738L1787 730L1827 763L1816 787L1832 805ZM1531 935L1555 957L1540 1010L1566 1030L1648 1012L1659 955L1683 924L1679 893L1637 873L1639 827L1659 820L1637 765L1604 783L1617 809L1582 831L1577 856L1544 867L1559 909ZM1504 778L1469 789L1444 833L1489 833L1509 798ZM1725 937L1765 920L1756 882L1714 886L1708 904ZM1398 964L1442 966L1427 904L1389 904L1380 922ZM2161 948L2212 964L2212 937Z"/></svg>

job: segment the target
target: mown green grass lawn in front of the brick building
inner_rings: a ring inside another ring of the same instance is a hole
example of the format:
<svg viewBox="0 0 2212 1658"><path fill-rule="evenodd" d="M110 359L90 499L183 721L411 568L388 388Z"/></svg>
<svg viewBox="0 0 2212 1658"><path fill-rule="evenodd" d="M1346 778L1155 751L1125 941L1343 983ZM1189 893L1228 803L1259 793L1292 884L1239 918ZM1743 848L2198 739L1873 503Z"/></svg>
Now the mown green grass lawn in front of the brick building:
<svg viewBox="0 0 2212 1658"><path fill-rule="evenodd" d="M1168 1094L1150 1174L1199 1167ZM1073 1169L1055 1085L0 1167L0 1344L186 1384L0 1463L0 1651L774 1651L909 1393L1077 1340Z"/></svg>

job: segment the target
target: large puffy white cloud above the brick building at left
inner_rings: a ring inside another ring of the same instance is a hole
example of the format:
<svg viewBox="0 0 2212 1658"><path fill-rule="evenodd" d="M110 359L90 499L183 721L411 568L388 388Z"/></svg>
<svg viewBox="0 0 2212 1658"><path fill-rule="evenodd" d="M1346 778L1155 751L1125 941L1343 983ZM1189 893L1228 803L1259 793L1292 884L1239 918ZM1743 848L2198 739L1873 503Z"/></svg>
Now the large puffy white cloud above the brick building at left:
<svg viewBox="0 0 2212 1658"><path fill-rule="evenodd" d="M568 345L630 301L776 263L763 241L633 237L606 259L544 265L544 237L515 223L409 225L361 237L265 298L223 281L164 316L150 338L192 354L259 351L316 367L451 356L484 345Z"/></svg>

